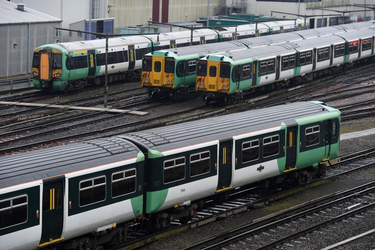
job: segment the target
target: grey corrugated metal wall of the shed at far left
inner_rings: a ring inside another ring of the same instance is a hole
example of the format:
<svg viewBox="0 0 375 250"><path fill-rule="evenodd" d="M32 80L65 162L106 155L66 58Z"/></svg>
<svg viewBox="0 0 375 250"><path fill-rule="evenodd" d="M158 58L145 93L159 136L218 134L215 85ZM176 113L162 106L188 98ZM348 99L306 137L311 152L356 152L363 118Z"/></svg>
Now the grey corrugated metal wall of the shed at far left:
<svg viewBox="0 0 375 250"><path fill-rule="evenodd" d="M0 76L27 73L28 58L30 58L31 70L34 48L56 42L55 27L60 27L60 24L61 22L31 23L29 55L27 55L28 24L0 25ZM16 48L14 44L17 44Z"/></svg>

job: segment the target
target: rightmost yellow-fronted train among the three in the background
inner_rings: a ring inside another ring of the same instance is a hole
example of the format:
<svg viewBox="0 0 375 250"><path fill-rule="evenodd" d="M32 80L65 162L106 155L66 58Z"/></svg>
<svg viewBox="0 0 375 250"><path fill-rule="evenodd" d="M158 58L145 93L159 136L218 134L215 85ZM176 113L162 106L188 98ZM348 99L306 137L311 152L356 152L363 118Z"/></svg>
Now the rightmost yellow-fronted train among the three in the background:
<svg viewBox="0 0 375 250"><path fill-rule="evenodd" d="M273 91L356 63L374 62L375 29L366 28L266 47L226 52L197 61L196 91L234 103L255 89Z"/></svg>

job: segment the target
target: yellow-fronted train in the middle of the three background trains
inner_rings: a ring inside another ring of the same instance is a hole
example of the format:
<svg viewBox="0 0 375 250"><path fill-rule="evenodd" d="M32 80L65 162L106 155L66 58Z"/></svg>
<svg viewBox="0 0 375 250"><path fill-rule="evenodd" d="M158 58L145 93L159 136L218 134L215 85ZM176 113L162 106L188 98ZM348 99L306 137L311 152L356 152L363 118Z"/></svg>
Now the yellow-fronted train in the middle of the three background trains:
<svg viewBox="0 0 375 250"><path fill-rule="evenodd" d="M373 22L359 22L311 30L288 30L289 33L252 37L219 44L195 45L150 52L143 57L141 84L152 97L167 96L180 99L195 90L196 61L213 54L223 54L242 49L254 49L276 43L338 34L351 30L374 27ZM199 69L198 69L199 70ZM209 99L205 99L209 103Z"/></svg>

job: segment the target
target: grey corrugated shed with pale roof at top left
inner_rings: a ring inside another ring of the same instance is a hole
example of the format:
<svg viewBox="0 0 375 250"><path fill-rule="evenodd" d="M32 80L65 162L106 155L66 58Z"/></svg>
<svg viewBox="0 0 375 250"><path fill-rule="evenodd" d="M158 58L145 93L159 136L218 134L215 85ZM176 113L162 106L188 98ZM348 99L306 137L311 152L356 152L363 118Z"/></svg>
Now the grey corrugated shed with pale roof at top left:
<svg viewBox="0 0 375 250"><path fill-rule="evenodd" d="M57 42L62 20L0 0L0 76L30 72L34 48Z"/></svg>

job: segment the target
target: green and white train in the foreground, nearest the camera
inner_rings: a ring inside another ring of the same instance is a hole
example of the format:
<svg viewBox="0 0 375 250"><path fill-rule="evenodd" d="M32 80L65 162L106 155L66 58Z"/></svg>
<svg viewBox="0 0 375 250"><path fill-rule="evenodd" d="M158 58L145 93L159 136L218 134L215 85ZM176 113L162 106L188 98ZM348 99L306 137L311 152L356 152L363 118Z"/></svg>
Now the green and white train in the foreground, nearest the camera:
<svg viewBox="0 0 375 250"><path fill-rule="evenodd" d="M134 222L152 232L249 184L324 176L340 119L295 102L3 156L1 249L108 249Z"/></svg>

